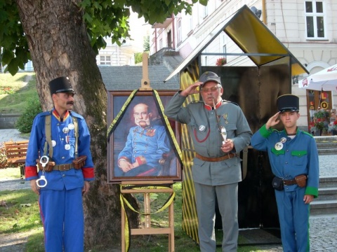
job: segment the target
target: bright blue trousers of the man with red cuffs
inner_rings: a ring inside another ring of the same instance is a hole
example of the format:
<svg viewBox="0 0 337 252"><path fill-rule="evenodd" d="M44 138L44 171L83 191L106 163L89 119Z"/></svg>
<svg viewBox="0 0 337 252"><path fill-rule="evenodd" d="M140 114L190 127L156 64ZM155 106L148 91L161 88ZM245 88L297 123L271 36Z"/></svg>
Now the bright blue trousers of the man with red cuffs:
<svg viewBox="0 0 337 252"><path fill-rule="evenodd" d="M39 206L46 252L83 252L82 188L40 190Z"/></svg>

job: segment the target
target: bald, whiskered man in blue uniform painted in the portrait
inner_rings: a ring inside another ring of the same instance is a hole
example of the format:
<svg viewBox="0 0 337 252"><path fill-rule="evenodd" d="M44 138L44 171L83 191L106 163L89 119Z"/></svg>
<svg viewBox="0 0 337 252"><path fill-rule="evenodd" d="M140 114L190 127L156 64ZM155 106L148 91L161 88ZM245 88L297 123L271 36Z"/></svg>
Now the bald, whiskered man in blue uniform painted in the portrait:
<svg viewBox="0 0 337 252"><path fill-rule="evenodd" d="M118 167L123 176L158 176L159 160L170 151L164 126L152 125L152 113L147 104L133 108L136 126L128 132L125 147L118 156Z"/></svg>

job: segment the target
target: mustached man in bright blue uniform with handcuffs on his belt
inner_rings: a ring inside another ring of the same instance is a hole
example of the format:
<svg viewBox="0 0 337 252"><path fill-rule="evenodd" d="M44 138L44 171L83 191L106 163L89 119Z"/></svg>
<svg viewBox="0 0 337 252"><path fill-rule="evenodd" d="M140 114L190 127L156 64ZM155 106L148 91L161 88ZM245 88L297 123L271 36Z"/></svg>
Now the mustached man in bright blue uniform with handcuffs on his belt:
<svg viewBox="0 0 337 252"><path fill-rule="evenodd" d="M46 251L83 252L82 195L94 179L90 134L84 118L71 111L69 78L55 78L49 88L54 108L34 118L25 176L39 195Z"/></svg>

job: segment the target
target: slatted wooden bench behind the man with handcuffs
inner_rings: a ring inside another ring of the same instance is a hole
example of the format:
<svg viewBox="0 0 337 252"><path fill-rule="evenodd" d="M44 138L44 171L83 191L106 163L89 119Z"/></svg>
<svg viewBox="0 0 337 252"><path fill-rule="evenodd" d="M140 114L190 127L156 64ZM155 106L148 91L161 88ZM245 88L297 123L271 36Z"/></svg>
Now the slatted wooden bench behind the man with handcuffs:
<svg viewBox="0 0 337 252"><path fill-rule="evenodd" d="M4 142L6 150L7 165L20 166L21 179L25 177L25 162L28 148L26 141L6 141Z"/></svg>

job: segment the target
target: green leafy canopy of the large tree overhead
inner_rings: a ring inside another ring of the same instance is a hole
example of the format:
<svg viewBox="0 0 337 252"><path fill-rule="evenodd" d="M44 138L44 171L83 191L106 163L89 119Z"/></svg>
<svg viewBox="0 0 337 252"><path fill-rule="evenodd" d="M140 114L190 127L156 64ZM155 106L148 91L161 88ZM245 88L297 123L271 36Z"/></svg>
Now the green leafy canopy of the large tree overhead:
<svg viewBox="0 0 337 252"><path fill-rule="evenodd" d="M122 38L130 37L128 17L130 8L143 17L145 22L164 22L171 14L192 12L192 4L198 0L84 0L79 1L79 10L83 13L91 46L98 54L100 48L105 48L106 37L112 38L112 43L121 45ZM199 0L206 6L208 0ZM27 2L29 4L29 1ZM61 3L60 3L61 4ZM0 0L0 48L2 48L2 64L7 65L5 71L12 75L18 69L25 69L25 63L30 59L27 39L20 22L15 0Z"/></svg>

